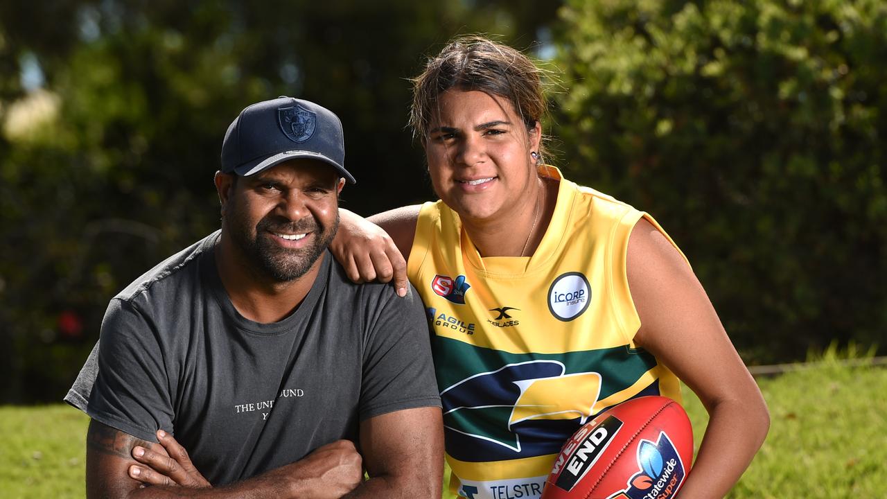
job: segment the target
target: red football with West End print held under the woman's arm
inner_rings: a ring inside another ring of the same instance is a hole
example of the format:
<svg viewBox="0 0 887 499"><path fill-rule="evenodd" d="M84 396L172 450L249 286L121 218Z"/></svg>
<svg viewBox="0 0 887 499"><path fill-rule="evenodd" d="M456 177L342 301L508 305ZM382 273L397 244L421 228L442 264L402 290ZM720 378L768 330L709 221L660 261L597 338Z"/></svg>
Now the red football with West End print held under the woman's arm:
<svg viewBox="0 0 887 499"><path fill-rule="evenodd" d="M626 400L567 440L542 499L669 499L693 461L693 428L666 397Z"/></svg>

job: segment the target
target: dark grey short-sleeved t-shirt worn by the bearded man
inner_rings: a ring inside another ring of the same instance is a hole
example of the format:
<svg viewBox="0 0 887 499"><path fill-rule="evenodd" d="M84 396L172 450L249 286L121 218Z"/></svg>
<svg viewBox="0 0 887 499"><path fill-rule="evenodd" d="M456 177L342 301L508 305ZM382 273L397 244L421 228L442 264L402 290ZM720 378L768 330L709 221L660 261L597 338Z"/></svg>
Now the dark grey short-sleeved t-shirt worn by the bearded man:
<svg viewBox="0 0 887 499"><path fill-rule="evenodd" d="M68 403L139 439L171 432L214 485L356 441L368 417L439 405L415 289L354 284L327 252L295 312L260 324L228 298L217 239L114 297Z"/></svg>

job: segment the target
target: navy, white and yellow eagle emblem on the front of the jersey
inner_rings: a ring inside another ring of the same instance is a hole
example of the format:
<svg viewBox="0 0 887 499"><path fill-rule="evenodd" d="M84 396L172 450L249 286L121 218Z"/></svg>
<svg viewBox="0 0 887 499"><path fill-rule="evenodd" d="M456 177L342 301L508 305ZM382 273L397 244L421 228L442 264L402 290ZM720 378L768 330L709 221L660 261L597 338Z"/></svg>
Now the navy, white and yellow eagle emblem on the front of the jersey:
<svg viewBox="0 0 887 499"><path fill-rule="evenodd" d="M556 454L593 416L600 374L530 360L469 376L441 392L450 455L482 462Z"/></svg>

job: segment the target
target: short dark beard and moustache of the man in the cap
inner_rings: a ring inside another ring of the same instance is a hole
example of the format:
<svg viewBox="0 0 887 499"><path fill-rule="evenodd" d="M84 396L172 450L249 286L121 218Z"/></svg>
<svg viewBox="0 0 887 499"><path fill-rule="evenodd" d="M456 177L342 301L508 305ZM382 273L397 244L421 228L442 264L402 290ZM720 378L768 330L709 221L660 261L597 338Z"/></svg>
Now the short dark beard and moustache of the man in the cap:
<svg viewBox="0 0 887 499"><path fill-rule="evenodd" d="M289 222L286 218L268 215L259 220L255 226L255 237L251 236L247 221L235 212L227 217L227 228L232 242L243 251L249 259L250 266L265 273L278 282L295 281L308 272L311 265L318 261L320 255L333 242L339 229L339 214L333 226L323 227L315 218L302 218L297 222ZM271 238L277 234L312 233L313 242L302 249L280 247Z"/></svg>

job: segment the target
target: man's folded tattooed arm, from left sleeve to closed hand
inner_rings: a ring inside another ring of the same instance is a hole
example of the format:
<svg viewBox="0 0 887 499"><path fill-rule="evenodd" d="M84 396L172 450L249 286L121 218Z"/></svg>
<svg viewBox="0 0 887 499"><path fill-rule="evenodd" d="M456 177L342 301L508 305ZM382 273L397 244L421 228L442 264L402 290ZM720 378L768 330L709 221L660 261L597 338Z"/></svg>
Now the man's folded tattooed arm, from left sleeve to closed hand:
<svg viewBox="0 0 887 499"><path fill-rule="evenodd" d="M326 499L347 494L363 479L357 449L347 440L338 440L318 448L301 461L224 487L143 487L129 476L130 466L137 464L131 455L132 448L138 446L165 455L160 444L137 439L96 420L90 422L86 440L86 495L89 498Z"/></svg>

